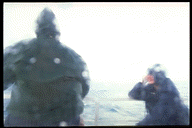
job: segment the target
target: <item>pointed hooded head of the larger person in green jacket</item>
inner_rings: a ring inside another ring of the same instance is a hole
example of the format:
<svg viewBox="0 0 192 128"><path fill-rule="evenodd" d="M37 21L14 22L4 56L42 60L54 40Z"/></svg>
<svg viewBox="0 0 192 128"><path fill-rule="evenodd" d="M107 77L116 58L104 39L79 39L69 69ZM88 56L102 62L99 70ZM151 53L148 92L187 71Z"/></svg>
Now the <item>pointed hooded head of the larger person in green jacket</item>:
<svg viewBox="0 0 192 128"><path fill-rule="evenodd" d="M37 37L56 38L60 32L54 24L55 14L48 8L45 8L37 19L36 35Z"/></svg>

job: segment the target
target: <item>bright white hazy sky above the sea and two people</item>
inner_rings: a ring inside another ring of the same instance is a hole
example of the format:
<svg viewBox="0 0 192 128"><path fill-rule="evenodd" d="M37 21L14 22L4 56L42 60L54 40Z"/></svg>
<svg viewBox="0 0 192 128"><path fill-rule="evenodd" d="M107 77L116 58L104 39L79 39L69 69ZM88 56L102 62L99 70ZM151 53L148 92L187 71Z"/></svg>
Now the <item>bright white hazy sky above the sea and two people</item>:
<svg viewBox="0 0 192 128"><path fill-rule="evenodd" d="M155 63L171 79L189 80L189 3L4 3L4 48L34 38L45 7L92 80L140 81Z"/></svg>

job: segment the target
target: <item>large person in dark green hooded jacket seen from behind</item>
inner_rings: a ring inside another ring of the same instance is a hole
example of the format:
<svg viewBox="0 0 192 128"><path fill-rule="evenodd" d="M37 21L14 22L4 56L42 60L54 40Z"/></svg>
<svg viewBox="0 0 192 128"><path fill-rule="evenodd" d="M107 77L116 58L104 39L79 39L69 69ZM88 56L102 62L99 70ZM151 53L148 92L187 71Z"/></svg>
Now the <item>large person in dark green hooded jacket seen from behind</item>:
<svg viewBox="0 0 192 128"><path fill-rule="evenodd" d="M20 41L4 53L4 90L13 84L5 126L82 125L89 91L86 63L61 45L54 13L37 19L37 38Z"/></svg>

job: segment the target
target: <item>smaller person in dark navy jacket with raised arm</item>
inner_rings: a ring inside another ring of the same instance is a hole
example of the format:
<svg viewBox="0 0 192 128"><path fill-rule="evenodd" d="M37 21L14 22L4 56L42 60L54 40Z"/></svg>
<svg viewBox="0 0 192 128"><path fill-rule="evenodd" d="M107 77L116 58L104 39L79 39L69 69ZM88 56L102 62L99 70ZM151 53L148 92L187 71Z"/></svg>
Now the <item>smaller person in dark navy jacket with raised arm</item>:
<svg viewBox="0 0 192 128"><path fill-rule="evenodd" d="M160 64L149 68L148 75L134 86L128 96L145 101L147 115L136 125L189 125L189 109Z"/></svg>

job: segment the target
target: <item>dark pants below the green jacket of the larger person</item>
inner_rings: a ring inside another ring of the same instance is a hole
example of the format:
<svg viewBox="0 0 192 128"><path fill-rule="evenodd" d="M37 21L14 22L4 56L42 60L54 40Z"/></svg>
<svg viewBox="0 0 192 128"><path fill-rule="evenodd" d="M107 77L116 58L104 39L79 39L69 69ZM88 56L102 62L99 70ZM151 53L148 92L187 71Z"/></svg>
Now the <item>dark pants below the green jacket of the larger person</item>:
<svg viewBox="0 0 192 128"><path fill-rule="evenodd" d="M33 121L33 120L27 120L20 117L14 117L12 115L8 115L5 119L4 126L10 127L10 126L60 126L61 122L42 122L42 121ZM68 126L78 126L80 124L80 116L66 121Z"/></svg>

